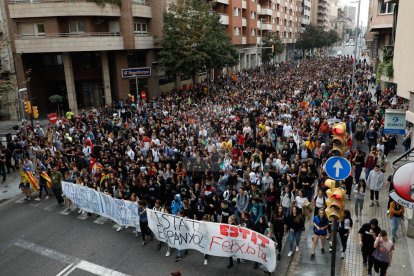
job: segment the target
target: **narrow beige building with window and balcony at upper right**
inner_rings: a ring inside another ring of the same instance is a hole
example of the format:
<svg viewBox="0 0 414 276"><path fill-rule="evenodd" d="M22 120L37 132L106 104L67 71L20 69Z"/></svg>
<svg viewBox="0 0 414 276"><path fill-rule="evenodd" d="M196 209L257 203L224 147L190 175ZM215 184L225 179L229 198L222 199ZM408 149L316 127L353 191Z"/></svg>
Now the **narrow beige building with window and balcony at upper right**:
<svg viewBox="0 0 414 276"><path fill-rule="evenodd" d="M368 32L365 40L374 66L382 61L384 49L392 48L394 45L394 8L395 3L392 1L370 1Z"/></svg>

